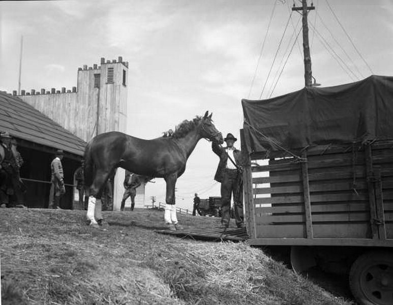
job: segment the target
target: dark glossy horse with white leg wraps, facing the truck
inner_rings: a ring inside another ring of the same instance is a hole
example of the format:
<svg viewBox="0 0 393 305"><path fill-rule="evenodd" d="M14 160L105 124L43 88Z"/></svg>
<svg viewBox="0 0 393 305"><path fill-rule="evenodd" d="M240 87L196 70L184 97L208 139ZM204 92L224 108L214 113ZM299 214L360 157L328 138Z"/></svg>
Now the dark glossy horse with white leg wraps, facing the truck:
<svg viewBox="0 0 393 305"><path fill-rule="evenodd" d="M98 228L103 224L101 193L109 176L122 167L146 177L164 178L166 182L166 207L164 221L170 230L179 230L175 209L175 185L185 169L186 162L202 138L224 142L211 120L208 111L204 116L184 120L175 131L164 136L145 140L121 132L107 132L90 140L84 151L84 187L87 201L87 223Z"/></svg>

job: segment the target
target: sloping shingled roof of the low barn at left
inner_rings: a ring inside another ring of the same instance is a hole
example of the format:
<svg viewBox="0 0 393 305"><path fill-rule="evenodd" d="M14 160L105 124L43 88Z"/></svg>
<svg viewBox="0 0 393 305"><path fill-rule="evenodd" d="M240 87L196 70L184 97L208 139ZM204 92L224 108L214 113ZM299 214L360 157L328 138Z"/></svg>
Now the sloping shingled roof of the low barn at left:
<svg viewBox="0 0 393 305"><path fill-rule="evenodd" d="M65 153L83 156L86 142L20 98L0 92L0 131Z"/></svg>

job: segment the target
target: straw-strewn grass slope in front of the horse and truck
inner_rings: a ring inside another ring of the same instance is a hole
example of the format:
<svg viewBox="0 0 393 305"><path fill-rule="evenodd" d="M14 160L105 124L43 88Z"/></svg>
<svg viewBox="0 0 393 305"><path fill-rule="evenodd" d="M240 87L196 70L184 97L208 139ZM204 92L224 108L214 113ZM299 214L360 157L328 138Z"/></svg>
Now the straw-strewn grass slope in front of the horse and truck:
<svg viewBox="0 0 393 305"><path fill-rule="evenodd" d="M294 275L246 242L206 242L154 232L163 212L1 209L6 304L350 304ZM179 215L185 227L219 219Z"/></svg>

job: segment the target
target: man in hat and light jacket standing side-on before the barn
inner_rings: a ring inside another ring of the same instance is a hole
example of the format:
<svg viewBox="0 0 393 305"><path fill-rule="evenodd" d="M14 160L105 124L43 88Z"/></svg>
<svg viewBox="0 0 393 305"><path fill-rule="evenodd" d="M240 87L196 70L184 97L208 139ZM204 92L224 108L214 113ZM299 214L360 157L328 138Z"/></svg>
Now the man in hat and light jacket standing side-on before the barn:
<svg viewBox="0 0 393 305"><path fill-rule="evenodd" d="M52 160L50 164L51 177L50 177L50 192L49 192L49 206L48 208L59 209L60 198L66 193L66 188L64 186L64 173L62 166L62 159L64 156L63 149L57 149L56 157Z"/></svg>

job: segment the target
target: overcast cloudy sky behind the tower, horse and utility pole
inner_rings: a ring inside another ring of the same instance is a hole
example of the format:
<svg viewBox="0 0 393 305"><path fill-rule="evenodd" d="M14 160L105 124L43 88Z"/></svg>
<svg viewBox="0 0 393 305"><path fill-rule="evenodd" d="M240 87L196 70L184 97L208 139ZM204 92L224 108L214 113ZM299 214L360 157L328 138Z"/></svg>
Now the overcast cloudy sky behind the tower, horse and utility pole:
<svg viewBox="0 0 393 305"><path fill-rule="evenodd" d="M123 56L129 62L127 133L155 138L208 110L224 136L239 138L241 99L304 86L301 15L292 5L293 0L2 1L0 89L18 88L23 35L26 91L71 88L78 67ZM315 0L314 6L309 40L318 83L393 75L393 1ZM202 139L178 179L178 206L191 208L195 192L220 196L213 179L218 161ZM148 184L146 196L165 202L164 181Z"/></svg>

